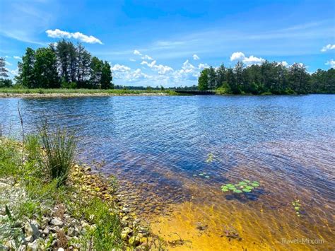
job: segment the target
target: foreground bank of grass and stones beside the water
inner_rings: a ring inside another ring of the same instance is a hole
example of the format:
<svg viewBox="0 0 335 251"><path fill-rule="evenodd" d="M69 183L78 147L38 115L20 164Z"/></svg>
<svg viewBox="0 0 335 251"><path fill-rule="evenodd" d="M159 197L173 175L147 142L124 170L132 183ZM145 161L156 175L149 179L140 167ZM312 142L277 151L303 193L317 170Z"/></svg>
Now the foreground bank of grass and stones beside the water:
<svg viewBox="0 0 335 251"><path fill-rule="evenodd" d="M0 138L0 250L160 249L114 177L72 163L73 138L57 134Z"/></svg>

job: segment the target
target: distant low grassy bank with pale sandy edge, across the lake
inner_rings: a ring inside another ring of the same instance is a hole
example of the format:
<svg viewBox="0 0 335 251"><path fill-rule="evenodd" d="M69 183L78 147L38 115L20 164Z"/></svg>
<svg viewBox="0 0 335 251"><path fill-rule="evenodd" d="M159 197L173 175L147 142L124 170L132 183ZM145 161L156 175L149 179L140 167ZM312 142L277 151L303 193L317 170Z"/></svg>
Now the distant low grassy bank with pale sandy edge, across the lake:
<svg viewBox="0 0 335 251"><path fill-rule="evenodd" d="M178 95L170 90L124 90L124 89L28 89L0 88L0 96L11 95Z"/></svg>

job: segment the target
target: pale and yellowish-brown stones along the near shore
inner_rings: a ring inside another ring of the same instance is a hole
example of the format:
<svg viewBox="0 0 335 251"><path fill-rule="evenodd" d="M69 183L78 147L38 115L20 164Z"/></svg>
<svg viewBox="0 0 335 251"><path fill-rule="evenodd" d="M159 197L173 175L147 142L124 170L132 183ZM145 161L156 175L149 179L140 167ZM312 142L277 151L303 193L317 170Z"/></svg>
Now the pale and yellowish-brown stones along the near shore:
<svg viewBox="0 0 335 251"><path fill-rule="evenodd" d="M0 199L7 203L6 206L1 205L0 210L0 239L6 241L3 241L0 250L90 250L90 240L87 243L83 243L83 240L88 231L95 229L95 224L90 221L95 216L90 215L88 220L75 216L71 212L71 204L95 197L110 205L111 214L119 216L121 238L127 249L148 249L149 241L155 241L148 228L140 225L139 218L129 210L129 205L119 199L115 188L109 184L107 178L93 173L89 167L74 165L69 178L69 186L74 188L68 198L69 204L56 203L53 207L42 205L42 216L33 215L16 221L15 212L11 209L25 201L26 192L13 177L2 178Z"/></svg>

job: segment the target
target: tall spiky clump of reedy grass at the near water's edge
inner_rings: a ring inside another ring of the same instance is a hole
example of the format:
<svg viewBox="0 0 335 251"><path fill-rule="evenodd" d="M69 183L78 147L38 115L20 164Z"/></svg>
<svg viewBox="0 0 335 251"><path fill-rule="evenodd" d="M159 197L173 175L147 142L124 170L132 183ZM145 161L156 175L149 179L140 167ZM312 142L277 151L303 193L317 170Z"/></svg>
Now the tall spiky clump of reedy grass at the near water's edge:
<svg viewBox="0 0 335 251"><path fill-rule="evenodd" d="M64 185L71 165L74 163L76 140L74 134L69 134L66 129L57 128L50 132L45 125L41 132L42 146L45 150L45 167L57 185Z"/></svg>

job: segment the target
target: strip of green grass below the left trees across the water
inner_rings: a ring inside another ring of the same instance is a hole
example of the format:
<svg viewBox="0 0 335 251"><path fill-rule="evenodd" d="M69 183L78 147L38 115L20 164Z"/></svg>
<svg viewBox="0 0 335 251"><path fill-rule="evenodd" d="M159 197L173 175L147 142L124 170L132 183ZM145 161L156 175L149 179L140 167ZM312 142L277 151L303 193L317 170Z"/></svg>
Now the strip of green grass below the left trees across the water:
<svg viewBox="0 0 335 251"><path fill-rule="evenodd" d="M124 89L28 89L28 88L0 88L0 93L11 93L11 94L110 94L110 95L141 95L144 93L165 93L165 95L178 95L175 91L170 90L124 90Z"/></svg>

